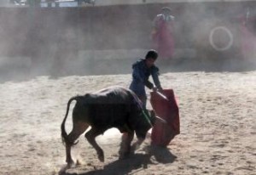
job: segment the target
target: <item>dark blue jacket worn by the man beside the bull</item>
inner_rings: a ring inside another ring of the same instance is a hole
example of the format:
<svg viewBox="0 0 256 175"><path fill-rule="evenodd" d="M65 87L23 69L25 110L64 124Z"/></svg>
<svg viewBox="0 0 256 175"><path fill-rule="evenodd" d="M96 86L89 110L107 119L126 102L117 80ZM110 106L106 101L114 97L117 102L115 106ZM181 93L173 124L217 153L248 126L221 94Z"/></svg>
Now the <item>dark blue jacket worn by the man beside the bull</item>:
<svg viewBox="0 0 256 175"><path fill-rule="evenodd" d="M149 89L161 88L159 81L159 69L155 65L148 68L145 59L139 59L132 65L132 82L130 89L137 94L137 96L146 96L145 86ZM154 84L148 81L149 76L152 76Z"/></svg>

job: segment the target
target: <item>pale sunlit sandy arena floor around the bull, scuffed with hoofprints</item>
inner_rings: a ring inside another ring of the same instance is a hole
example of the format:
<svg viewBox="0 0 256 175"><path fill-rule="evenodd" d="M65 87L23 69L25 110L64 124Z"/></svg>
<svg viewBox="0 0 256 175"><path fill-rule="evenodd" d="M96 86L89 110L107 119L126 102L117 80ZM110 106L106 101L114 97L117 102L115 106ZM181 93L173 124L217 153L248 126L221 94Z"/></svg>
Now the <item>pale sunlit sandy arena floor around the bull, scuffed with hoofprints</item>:
<svg viewBox="0 0 256 175"><path fill-rule="evenodd" d="M136 155L118 161L114 131L98 138L106 157L100 164L81 136L73 155L82 165L65 174L255 174L256 71L166 73L160 79L174 89L180 108L181 134L168 149L146 154L148 138ZM131 75L38 76L1 83L0 174L58 174L65 165L60 126L67 100L111 85L127 88L130 81ZM71 125L68 116L68 131Z"/></svg>

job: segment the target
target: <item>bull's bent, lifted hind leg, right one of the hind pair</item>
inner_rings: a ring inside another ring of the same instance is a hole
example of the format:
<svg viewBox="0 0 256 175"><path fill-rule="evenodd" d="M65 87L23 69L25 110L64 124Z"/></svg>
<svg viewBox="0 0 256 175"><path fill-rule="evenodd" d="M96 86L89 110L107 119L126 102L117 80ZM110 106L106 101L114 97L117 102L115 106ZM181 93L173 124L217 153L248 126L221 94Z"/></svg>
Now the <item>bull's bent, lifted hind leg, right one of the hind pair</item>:
<svg viewBox="0 0 256 175"><path fill-rule="evenodd" d="M89 132L85 133L85 138L87 138L88 142L93 146L98 155L98 159L100 161L104 161L104 152L102 148L96 143L96 137L102 134L102 132L95 127L92 127Z"/></svg>

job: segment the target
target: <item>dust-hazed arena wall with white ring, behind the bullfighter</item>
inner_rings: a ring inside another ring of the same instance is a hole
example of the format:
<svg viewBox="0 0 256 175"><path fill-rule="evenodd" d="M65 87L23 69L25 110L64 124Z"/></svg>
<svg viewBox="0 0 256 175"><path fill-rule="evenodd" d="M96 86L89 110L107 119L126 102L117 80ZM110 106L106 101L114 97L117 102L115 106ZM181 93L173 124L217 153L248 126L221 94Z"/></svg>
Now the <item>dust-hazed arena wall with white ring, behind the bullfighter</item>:
<svg viewBox="0 0 256 175"><path fill-rule="evenodd" d="M167 65L159 59L163 71L254 70L255 4L1 7L0 81L131 73L153 46L152 21L163 6L175 16L175 54Z"/></svg>

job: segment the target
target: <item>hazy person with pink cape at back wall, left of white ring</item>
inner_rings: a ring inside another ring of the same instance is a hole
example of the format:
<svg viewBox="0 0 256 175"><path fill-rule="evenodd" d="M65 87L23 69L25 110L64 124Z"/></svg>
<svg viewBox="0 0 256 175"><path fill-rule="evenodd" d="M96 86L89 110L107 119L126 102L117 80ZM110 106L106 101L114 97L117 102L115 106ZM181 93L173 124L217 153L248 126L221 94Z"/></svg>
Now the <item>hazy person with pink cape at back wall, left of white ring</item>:
<svg viewBox="0 0 256 175"><path fill-rule="evenodd" d="M154 48L158 51L160 59L168 61L174 53L174 16L171 15L171 8L162 8L162 13L154 18L153 25Z"/></svg>

